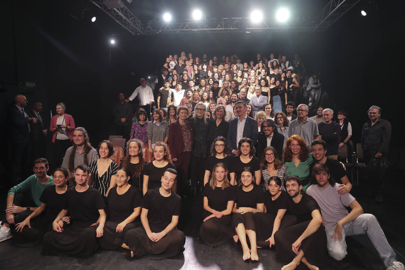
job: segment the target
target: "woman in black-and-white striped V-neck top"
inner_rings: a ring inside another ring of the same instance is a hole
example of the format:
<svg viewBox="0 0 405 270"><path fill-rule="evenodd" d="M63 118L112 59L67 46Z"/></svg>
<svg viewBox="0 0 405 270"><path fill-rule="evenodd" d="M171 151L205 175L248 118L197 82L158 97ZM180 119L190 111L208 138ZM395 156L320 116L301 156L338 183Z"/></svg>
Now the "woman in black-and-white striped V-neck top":
<svg viewBox="0 0 405 270"><path fill-rule="evenodd" d="M107 196L109 190L115 187L115 174L118 165L110 159L114 153L113 144L109 140L102 140L98 144L99 159L92 161L89 165L89 186L93 186L101 192L102 196Z"/></svg>

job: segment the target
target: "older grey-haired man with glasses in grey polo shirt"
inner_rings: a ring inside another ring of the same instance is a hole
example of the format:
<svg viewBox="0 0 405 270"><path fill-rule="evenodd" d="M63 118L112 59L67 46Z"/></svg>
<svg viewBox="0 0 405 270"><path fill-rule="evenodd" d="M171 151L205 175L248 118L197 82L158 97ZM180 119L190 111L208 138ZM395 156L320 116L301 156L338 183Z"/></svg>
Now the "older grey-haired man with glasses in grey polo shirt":
<svg viewBox="0 0 405 270"><path fill-rule="evenodd" d="M290 122L288 136L297 134L305 140L308 146L311 146L311 142L318 139L319 130L316 121L308 118L307 115L308 106L299 104L297 108L298 118Z"/></svg>

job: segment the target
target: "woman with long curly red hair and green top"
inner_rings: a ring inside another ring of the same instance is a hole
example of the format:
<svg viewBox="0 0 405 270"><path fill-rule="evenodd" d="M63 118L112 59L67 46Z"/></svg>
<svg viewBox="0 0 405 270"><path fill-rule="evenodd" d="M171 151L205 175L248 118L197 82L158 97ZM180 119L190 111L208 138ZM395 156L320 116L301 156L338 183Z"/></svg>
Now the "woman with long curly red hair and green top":
<svg viewBox="0 0 405 270"><path fill-rule="evenodd" d="M303 191L311 184L309 181L309 166L313 162L312 153L305 140L299 135L292 135L286 141L283 153L283 163L287 166L287 175L301 178Z"/></svg>

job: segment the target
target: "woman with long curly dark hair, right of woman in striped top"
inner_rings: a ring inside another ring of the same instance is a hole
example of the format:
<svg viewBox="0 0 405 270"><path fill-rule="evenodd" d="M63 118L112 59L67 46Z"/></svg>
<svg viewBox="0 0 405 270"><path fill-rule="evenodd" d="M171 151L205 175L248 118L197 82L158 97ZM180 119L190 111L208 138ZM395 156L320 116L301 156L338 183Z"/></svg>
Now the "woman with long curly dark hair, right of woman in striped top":
<svg viewBox="0 0 405 270"><path fill-rule="evenodd" d="M128 184L143 189L143 168L148 163L143 155L143 143L137 139L131 139L127 142L127 155L121 162L120 168L128 168L131 178Z"/></svg>

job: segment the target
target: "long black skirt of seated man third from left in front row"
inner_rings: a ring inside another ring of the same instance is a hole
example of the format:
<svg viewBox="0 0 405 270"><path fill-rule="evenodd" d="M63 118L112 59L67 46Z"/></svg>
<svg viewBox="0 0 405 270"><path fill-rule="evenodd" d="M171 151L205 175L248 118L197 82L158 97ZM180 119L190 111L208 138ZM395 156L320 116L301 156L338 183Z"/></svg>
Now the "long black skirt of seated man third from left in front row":
<svg viewBox="0 0 405 270"><path fill-rule="evenodd" d="M73 221L63 232L47 232L42 240L43 255L83 255L98 249L96 226L92 221Z"/></svg>

